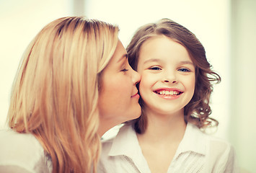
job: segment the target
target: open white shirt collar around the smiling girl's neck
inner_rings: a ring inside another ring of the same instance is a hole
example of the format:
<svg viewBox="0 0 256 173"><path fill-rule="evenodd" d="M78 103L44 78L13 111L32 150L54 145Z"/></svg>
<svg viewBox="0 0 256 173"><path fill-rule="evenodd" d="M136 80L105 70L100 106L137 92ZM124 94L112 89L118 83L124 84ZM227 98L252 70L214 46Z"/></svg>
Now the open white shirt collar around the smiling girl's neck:
<svg viewBox="0 0 256 173"><path fill-rule="evenodd" d="M206 154L206 135L191 123L187 123L185 134L177 148L176 155L178 156L186 151ZM112 142L109 156L125 155L130 158L138 158L140 154L142 154L142 151L136 132L131 125L124 125Z"/></svg>

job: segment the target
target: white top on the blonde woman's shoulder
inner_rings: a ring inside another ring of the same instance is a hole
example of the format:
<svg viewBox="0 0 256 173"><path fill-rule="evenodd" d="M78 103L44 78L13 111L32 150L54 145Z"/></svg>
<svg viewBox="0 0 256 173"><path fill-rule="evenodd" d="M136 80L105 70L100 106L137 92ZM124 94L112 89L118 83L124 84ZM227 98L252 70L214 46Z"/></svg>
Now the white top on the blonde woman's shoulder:
<svg viewBox="0 0 256 173"><path fill-rule="evenodd" d="M50 159L31 133L0 130L0 141L0 172L52 172Z"/></svg>

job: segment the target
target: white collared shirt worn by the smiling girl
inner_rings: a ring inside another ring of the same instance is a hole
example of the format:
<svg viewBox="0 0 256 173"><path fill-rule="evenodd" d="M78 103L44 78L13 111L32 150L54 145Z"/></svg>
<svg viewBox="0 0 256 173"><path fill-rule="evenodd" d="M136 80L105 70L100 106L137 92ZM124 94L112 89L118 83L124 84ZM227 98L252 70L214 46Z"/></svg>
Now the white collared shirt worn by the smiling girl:
<svg viewBox="0 0 256 173"><path fill-rule="evenodd" d="M102 141L102 154L98 172L150 173L131 126L120 128L118 135ZM167 173L239 172L235 164L234 149L229 143L209 136L195 125L187 123L185 135L177 148Z"/></svg>

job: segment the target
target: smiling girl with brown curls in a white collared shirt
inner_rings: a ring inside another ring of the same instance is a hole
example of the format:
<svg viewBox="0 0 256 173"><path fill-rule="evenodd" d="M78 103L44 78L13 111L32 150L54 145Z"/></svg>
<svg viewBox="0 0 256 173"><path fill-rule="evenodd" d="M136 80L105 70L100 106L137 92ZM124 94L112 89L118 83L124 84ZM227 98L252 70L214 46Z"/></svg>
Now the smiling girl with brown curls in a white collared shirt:
<svg viewBox="0 0 256 173"><path fill-rule="evenodd" d="M142 114L103 142L100 172L236 172L229 143L203 133L218 125L209 100L221 78L195 35L162 19L139 28L127 51Z"/></svg>

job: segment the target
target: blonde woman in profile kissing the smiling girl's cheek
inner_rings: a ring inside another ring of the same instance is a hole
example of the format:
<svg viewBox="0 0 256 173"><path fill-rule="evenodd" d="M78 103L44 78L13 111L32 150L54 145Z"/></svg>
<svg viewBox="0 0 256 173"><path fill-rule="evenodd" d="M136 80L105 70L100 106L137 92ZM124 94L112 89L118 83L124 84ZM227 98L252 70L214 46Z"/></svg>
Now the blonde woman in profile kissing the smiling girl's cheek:
<svg viewBox="0 0 256 173"><path fill-rule="evenodd" d="M96 172L99 136L141 114L139 80L118 27L84 17L50 22L14 80L0 172Z"/></svg>

